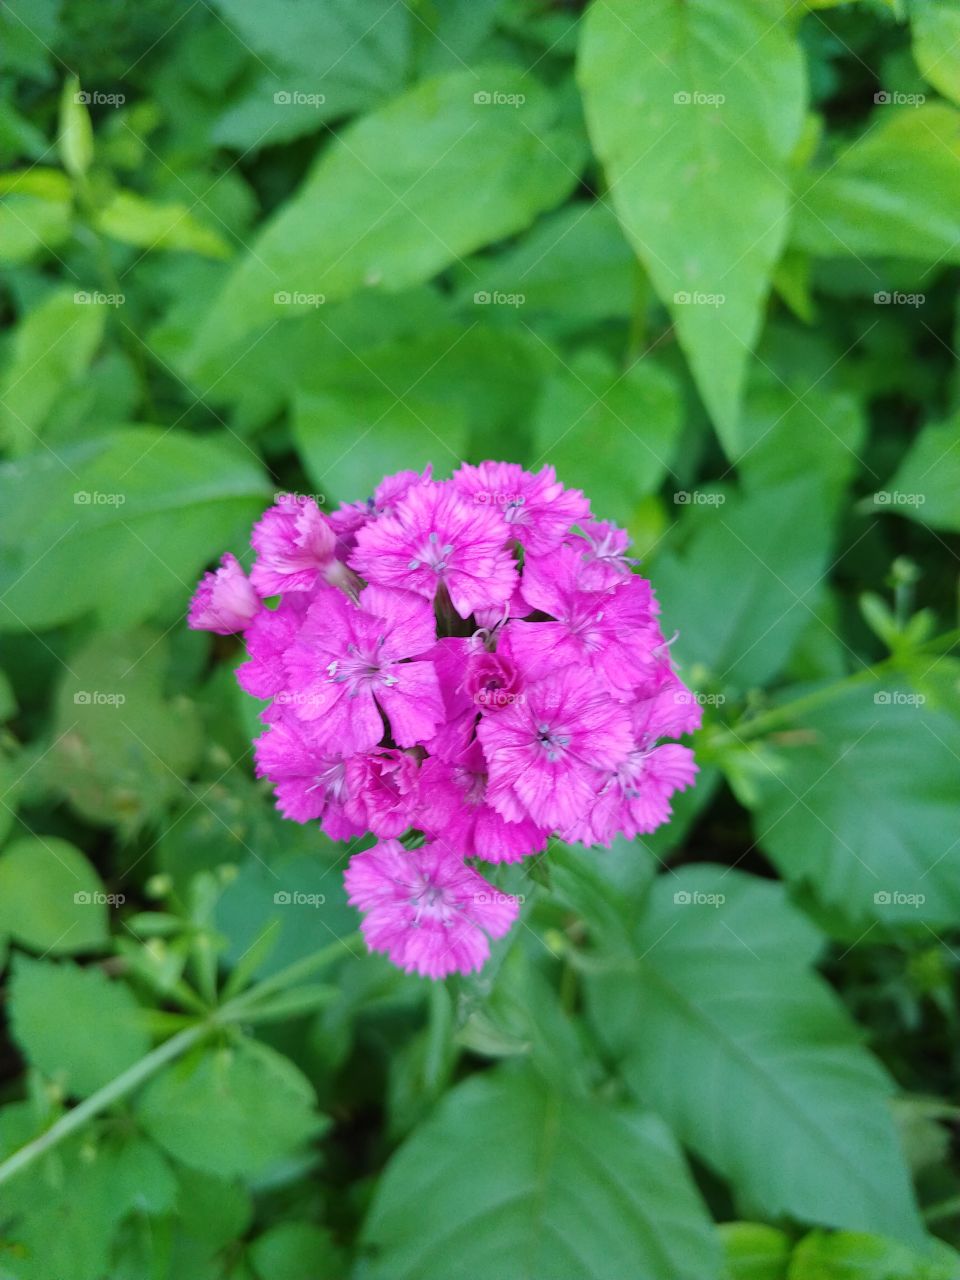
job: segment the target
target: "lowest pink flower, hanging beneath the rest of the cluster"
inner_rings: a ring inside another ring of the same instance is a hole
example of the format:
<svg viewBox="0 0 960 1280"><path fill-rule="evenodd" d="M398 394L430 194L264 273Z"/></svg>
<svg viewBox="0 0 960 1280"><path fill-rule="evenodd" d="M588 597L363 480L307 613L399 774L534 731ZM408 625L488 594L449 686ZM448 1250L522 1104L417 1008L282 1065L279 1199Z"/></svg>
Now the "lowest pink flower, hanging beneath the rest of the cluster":
<svg viewBox="0 0 960 1280"><path fill-rule="evenodd" d="M383 840L351 858L344 883L351 904L366 913L367 946L425 978L480 969L489 938L503 937L520 909L440 844L407 851Z"/></svg>

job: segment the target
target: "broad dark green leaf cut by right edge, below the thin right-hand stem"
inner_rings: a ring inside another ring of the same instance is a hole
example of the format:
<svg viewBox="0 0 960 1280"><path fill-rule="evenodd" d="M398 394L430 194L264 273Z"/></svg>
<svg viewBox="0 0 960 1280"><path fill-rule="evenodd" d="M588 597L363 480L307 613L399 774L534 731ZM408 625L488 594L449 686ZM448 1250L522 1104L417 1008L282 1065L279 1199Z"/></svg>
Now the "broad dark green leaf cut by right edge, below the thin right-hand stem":
<svg viewBox="0 0 960 1280"><path fill-rule="evenodd" d="M893 676L841 690L785 724L790 741L758 780L760 847L864 928L950 925L960 911L960 722L927 699Z"/></svg>

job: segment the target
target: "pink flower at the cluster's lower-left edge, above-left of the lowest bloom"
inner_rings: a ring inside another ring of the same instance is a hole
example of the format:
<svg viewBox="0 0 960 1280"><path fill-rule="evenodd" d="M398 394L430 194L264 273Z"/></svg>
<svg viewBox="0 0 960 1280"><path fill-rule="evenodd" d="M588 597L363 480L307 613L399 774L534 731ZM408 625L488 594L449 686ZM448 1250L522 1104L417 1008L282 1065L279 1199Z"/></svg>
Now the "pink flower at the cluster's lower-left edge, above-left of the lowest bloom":
<svg viewBox="0 0 960 1280"><path fill-rule="evenodd" d="M278 721L253 744L257 777L269 778L276 808L293 822L319 818L330 840L352 840L365 823L347 817L346 765L324 755L289 721Z"/></svg>

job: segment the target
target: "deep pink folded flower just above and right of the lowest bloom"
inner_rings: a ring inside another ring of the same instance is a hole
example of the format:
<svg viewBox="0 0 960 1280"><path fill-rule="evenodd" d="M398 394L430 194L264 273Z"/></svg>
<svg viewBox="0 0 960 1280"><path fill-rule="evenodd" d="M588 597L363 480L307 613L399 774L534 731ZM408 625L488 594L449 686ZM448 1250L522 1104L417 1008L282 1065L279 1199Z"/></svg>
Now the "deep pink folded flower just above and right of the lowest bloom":
<svg viewBox="0 0 960 1280"><path fill-rule="evenodd" d="M429 759L421 771L417 826L465 858L516 863L547 847L549 832L530 818L507 822L486 799L486 762L475 742L457 763Z"/></svg>

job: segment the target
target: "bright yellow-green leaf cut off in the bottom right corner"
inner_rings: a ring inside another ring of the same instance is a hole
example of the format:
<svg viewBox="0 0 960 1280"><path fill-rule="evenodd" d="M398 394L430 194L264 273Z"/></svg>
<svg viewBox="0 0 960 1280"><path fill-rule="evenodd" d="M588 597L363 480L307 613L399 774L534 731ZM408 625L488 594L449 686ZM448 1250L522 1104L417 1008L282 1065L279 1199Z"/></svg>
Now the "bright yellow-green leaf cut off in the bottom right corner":
<svg viewBox="0 0 960 1280"><path fill-rule="evenodd" d="M957 1280L960 1253L942 1240L905 1248L896 1240L812 1231L796 1247L787 1280Z"/></svg>

